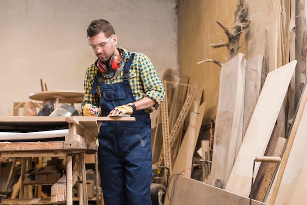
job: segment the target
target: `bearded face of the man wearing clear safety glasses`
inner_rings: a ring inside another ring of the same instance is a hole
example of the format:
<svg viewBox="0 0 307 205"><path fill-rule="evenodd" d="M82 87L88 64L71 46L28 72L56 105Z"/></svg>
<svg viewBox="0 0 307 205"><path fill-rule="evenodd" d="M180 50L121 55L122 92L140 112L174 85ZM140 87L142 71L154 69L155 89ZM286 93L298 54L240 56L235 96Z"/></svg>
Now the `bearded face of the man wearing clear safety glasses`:
<svg viewBox="0 0 307 205"><path fill-rule="evenodd" d="M103 32L88 37L88 46L95 53L95 55L102 61L108 61L116 49L117 36L111 35L109 38L105 37Z"/></svg>

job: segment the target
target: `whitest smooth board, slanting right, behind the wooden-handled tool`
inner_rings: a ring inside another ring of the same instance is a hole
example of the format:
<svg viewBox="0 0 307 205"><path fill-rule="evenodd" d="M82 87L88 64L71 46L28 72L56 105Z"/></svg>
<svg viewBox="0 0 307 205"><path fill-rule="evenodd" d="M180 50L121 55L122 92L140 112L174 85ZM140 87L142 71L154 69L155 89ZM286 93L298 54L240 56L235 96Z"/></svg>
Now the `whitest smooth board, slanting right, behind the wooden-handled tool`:
<svg viewBox="0 0 307 205"><path fill-rule="evenodd" d="M292 61L268 74L231 171L226 190L242 196L249 196L253 161L256 156L263 156L266 150L296 63L297 61ZM258 168L259 163L256 163L255 173Z"/></svg>

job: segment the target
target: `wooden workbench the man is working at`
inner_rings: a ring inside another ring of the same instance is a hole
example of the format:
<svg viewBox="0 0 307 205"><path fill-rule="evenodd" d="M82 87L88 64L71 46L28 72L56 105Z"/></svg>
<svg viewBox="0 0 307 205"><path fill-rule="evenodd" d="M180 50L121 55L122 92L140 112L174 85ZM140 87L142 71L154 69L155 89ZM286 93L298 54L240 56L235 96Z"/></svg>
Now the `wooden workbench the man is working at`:
<svg viewBox="0 0 307 205"><path fill-rule="evenodd" d="M84 153L96 154L99 133L99 124L106 121L135 121L134 117L50 117L50 116L0 116L0 132L36 132L54 129L68 129L61 141L48 141L38 139L38 141L2 141L0 143L0 157L21 157L21 176L26 173L26 158L32 157L66 157L66 200L54 203L50 198L24 199L24 184L20 186L19 199L2 199L1 205L11 204L67 204L73 205L73 155L80 156L80 170L82 179L83 196L80 202L88 204L86 191L86 174ZM96 158L96 157L95 157ZM97 162L97 160L96 160ZM95 165L98 170L98 164ZM98 171L96 171L99 179ZM98 196L97 196L98 198Z"/></svg>

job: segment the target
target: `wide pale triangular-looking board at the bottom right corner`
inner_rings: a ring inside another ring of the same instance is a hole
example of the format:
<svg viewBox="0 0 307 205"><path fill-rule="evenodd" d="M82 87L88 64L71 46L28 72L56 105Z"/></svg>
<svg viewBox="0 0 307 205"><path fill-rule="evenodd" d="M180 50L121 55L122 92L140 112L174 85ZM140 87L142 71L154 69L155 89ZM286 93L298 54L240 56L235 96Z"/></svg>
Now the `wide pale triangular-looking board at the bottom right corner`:
<svg viewBox="0 0 307 205"><path fill-rule="evenodd" d="M293 145L276 196L276 205L305 205L307 184L307 106L296 131Z"/></svg>

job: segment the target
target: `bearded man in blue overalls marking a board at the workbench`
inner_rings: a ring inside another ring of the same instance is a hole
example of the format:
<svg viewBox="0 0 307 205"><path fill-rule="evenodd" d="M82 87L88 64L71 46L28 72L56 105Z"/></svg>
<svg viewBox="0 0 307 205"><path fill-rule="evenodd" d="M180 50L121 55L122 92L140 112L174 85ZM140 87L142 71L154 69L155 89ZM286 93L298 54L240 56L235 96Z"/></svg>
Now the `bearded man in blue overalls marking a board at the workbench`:
<svg viewBox="0 0 307 205"><path fill-rule="evenodd" d="M135 122L103 122L98 135L99 171L105 205L151 205L150 113L165 93L150 59L117 48L113 26L94 20L87 29L89 48L98 57L85 73L84 116L130 114Z"/></svg>

